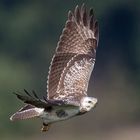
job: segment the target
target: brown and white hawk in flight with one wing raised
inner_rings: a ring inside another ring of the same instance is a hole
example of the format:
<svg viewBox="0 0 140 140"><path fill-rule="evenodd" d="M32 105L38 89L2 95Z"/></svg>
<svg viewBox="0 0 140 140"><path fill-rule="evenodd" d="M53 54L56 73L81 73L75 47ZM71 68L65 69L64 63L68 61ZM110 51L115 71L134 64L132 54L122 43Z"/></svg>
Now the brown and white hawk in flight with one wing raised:
<svg viewBox="0 0 140 140"><path fill-rule="evenodd" d="M89 79L95 64L99 40L98 22L93 9L83 4L68 12L49 68L47 97L40 99L33 91L16 94L26 105L10 117L11 121L41 118L42 131L51 124L89 112L97 99L88 97Z"/></svg>

